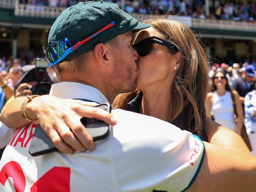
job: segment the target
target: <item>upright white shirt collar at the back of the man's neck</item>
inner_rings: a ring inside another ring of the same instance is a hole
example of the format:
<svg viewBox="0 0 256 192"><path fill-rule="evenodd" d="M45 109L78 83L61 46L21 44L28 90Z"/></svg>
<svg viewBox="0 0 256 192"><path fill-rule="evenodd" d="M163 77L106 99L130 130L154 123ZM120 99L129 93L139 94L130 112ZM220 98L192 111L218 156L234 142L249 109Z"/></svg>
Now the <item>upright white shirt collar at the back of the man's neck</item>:
<svg viewBox="0 0 256 192"><path fill-rule="evenodd" d="M95 87L76 82L61 82L52 85L50 95L63 99L86 99L97 103L108 103L106 97Z"/></svg>

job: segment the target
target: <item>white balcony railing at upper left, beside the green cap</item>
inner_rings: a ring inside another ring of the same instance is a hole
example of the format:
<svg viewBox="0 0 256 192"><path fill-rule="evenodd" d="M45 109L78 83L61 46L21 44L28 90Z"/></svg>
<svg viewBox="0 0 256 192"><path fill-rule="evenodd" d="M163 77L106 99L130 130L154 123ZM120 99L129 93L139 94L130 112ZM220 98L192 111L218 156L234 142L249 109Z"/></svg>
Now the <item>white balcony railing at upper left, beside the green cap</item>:
<svg viewBox="0 0 256 192"><path fill-rule="evenodd" d="M57 18L65 8L67 7L27 5L16 2L14 15L22 17Z"/></svg>

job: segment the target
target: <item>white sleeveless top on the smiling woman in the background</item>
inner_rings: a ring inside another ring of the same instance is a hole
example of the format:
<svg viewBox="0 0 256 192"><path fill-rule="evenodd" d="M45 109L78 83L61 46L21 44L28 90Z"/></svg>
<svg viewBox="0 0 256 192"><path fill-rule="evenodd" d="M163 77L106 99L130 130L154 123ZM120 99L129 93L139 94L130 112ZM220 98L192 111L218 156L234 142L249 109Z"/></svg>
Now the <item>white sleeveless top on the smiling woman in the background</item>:
<svg viewBox="0 0 256 192"><path fill-rule="evenodd" d="M213 110L215 120L234 120L234 107L231 93L226 91L226 94L219 96L217 91L214 91L211 109Z"/></svg>

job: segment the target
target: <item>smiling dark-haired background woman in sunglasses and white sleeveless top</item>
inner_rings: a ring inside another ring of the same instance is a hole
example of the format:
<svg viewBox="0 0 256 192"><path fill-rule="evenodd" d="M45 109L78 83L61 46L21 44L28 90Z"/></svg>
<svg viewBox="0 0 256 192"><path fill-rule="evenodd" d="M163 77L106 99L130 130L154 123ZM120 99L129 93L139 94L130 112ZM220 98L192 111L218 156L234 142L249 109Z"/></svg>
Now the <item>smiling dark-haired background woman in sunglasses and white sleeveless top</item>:
<svg viewBox="0 0 256 192"><path fill-rule="evenodd" d="M207 95L207 116L211 117L211 110L215 122L230 128L241 135L244 116L242 103L239 100L239 94L236 90L230 90L228 79L224 72L216 72L213 76L213 92ZM234 119L233 100L236 103L237 123Z"/></svg>

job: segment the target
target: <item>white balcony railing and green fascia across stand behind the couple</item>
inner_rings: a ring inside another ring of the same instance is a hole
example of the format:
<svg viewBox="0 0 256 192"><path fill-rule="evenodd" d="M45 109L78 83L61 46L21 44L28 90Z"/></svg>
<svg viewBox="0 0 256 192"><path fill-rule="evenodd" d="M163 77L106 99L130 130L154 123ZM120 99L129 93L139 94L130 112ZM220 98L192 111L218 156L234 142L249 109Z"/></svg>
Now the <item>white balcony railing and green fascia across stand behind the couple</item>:
<svg viewBox="0 0 256 192"><path fill-rule="evenodd" d="M0 0L2 4L0 7L13 7L14 0ZM17 18L22 18L20 25L22 23L31 24L44 24L42 28L50 28L50 25L54 22L55 18L66 7L50 7L50 6L38 6L38 5L28 5L20 4L19 1L15 1L15 11L14 16ZM149 15L143 14L131 14L138 20L143 20ZM184 22L192 28L195 33L200 34L200 37L208 38L223 38L223 39L241 39L241 40L254 40L256 39L256 23L252 22L240 22L232 20L216 20L216 19L200 19L182 16L169 16L169 18ZM47 25L47 27L45 26ZM41 28L37 25L37 28ZM242 33L241 33L242 32Z"/></svg>

